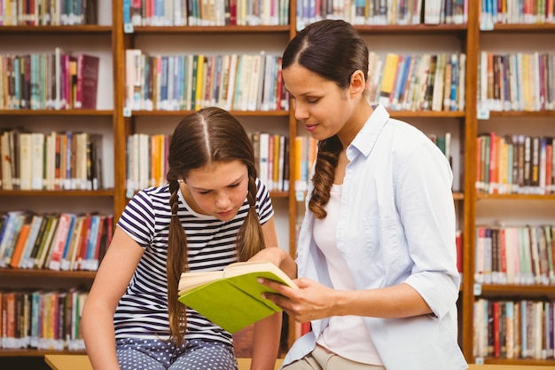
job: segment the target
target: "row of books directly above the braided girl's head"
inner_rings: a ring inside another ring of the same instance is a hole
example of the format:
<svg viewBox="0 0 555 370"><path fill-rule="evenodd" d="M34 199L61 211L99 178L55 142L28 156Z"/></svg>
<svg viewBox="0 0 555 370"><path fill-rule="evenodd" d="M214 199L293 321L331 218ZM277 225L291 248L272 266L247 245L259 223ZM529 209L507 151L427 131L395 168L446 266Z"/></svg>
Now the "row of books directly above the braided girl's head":
<svg viewBox="0 0 555 370"><path fill-rule="evenodd" d="M288 110L281 57L266 54L149 56L126 51L126 107L131 110Z"/></svg>

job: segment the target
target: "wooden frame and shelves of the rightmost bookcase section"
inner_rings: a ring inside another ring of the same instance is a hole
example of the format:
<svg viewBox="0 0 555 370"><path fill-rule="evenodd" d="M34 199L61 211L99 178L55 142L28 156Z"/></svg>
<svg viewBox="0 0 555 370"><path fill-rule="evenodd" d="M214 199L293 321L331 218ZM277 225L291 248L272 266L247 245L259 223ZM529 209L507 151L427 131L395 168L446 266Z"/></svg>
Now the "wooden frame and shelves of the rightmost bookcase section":
<svg viewBox="0 0 555 370"><path fill-rule="evenodd" d="M467 84L466 84L466 129L465 129L465 152L467 154L467 161L465 163L465 250L464 250L464 274L463 274L463 294L462 298L462 311L459 312L459 320L462 320L462 349L465 353L465 358L469 362L479 362L485 364L498 364L503 366L521 365L521 366L555 366L553 358L538 359L538 358L494 358L494 357L474 357L473 347L474 343L474 302L479 298L487 299L543 299L555 297L555 287L553 285L515 285L515 284L475 284L474 281L474 265L475 265L475 226L477 224L494 224L491 218L496 218L498 224L512 224L518 223L521 225L528 224L528 222L536 223L537 219L528 219L530 213L534 213L530 208L537 208L538 219L541 218L545 224L555 224L555 212L542 211L542 207L552 209L555 206L555 196L553 194L490 194L481 193L476 190L476 140L478 134L487 132L489 130L500 130L504 132L504 124L510 124L514 120L520 120L521 126L518 132L512 132L511 129L506 128L508 133L518 134L527 133L529 130L534 130L535 126L539 124L538 120L549 120L555 114L554 111L503 111L489 112L489 119L478 119L479 112L477 111L477 82L480 73L480 53L481 51L488 51L487 46L484 45L484 37L496 36L496 45L500 46L498 49L501 52L518 52L527 50L529 52L530 46L526 43L515 41L515 35L524 35L528 37L538 37L536 44L543 43L546 50L555 51L552 47L553 43L553 29L554 24L496 24L492 30L481 30L480 28L480 2L476 2L478 6L471 6L469 9L469 25L468 25L468 46L467 52L469 55L467 66ZM472 18L471 18L472 17ZM489 46L492 42L489 42ZM551 47L549 46L551 45ZM470 57L472 56L472 57ZM551 82L552 83L552 82ZM490 121L497 121L494 123ZM500 129L501 127L501 129ZM549 127L548 123L543 123L541 127ZM555 130L545 132L546 135L555 135ZM505 203L510 205L504 205ZM485 212L487 210L488 212ZM508 210L510 212L508 212ZM528 210L528 212L527 212ZM488 214L486 216L485 214ZM495 215L495 216L492 216ZM489 220L485 221L485 220Z"/></svg>

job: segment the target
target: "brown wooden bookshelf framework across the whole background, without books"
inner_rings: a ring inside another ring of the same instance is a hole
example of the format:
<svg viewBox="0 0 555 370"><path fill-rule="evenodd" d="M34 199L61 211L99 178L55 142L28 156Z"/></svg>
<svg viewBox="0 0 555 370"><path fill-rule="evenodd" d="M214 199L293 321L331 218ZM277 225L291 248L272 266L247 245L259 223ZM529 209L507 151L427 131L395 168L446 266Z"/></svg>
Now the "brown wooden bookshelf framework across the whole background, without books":
<svg viewBox="0 0 555 370"><path fill-rule="evenodd" d="M295 0L289 3L289 24L282 26L135 26L124 23L123 2L98 0L98 24L87 26L0 26L0 46L4 52L46 52L56 46L70 51L86 50L101 57L98 109L95 110L0 110L0 129L25 127L28 130L99 131L106 138L104 145L104 181L99 191L22 191L0 190L0 211L33 209L51 211L102 211L121 215L128 201L126 190L126 138L132 133L170 133L180 117L190 111L134 110L125 106L125 51L141 49L149 53L178 52L259 52L280 54L296 33ZM462 25L359 25L356 28L367 41L370 50L380 53L464 52L465 107L455 111L392 111L395 118L416 125L426 133L453 135L453 169L455 185L453 200L457 209L457 224L463 232L463 283L459 297L459 337L465 357L471 363L484 361L496 364L554 365L554 359L475 358L473 304L480 297L532 296L555 297L555 286L481 285L475 290L475 226L481 223L520 222L522 224L555 224L552 211L555 195L483 194L475 189L476 141L479 133L495 130L528 135L549 133L555 136L553 110L543 112L489 112L488 119L478 119L478 85L482 50L519 51L543 50L553 52L555 25L519 24L495 25L493 30L481 30L481 7L478 1L468 1L468 21ZM516 40L516 41L515 41ZM85 41L85 42L83 42ZM514 42L513 42L514 41ZM295 138L302 135L291 111L231 110L246 126L246 130L268 130ZM289 164L295 166L295 151L290 147ZM302 201L294 186L287 192L272 192L277 211L280 247L294 256L296 226L303 214ZM0 269L0 287L90 287L94 272L51 272L47 270L18 271ZM14 283L15 282L15 283ZM287 342L295 339L296 327L289 323ZM0 349L3 358L42 357L44 350Z"/></svg>

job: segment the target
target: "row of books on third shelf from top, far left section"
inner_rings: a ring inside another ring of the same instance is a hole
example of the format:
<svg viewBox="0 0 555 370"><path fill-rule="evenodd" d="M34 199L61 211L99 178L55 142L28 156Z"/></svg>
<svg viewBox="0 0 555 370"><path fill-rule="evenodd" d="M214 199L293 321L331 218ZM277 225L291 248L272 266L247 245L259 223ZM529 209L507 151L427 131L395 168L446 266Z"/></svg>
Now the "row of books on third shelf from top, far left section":
<svg viewBox="0 0 555 370"><path fill-rule="evenodd" d="M102 136L89 132L4 130L0 189L98 190Z"/></svg>

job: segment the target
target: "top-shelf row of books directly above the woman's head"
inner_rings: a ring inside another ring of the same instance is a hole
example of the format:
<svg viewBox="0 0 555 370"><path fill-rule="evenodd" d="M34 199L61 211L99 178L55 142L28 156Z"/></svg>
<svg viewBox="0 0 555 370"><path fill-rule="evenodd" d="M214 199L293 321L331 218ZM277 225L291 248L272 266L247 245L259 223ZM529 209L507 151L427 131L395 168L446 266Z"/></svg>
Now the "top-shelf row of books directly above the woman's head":
<svg viewBox="0 0 555 370"><path fill-rule="evenodd" d="M347 20L354 25L465 24L468 0L300 0L297 29L323 19Z"/></svg>

